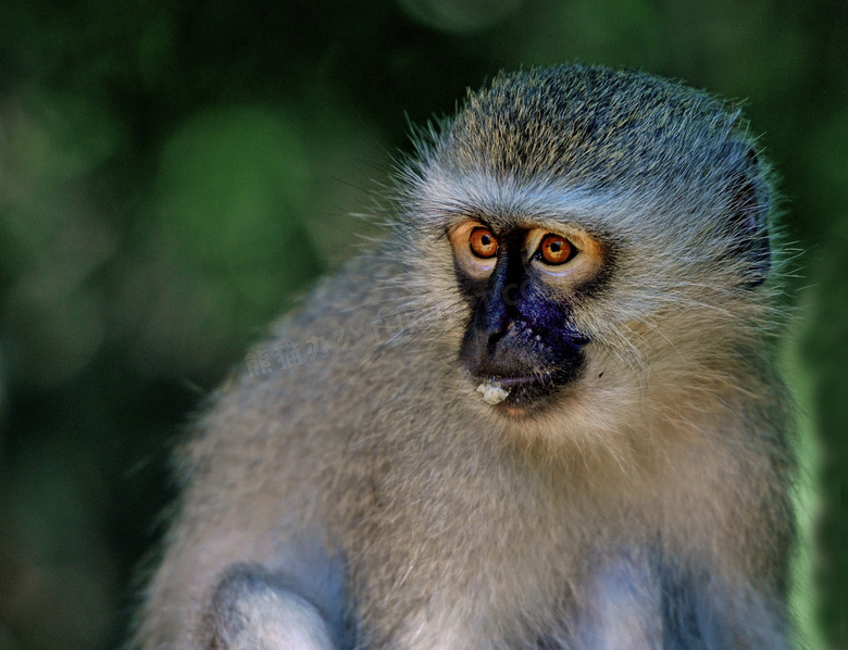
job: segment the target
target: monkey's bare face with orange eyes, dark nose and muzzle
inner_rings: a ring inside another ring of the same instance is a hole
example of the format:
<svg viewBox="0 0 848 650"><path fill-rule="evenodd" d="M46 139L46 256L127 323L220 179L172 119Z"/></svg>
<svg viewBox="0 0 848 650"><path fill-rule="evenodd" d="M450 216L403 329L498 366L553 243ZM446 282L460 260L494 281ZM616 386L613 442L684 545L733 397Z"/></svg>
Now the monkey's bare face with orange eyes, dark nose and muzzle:
<svg viewBox="0 0 848 650"><path fill-rule="evenodd" d="M584 370L589 338L573 310L602 279L603 247L576 228L498 229L476 220L449 227L448 237L470 308L464 368L489 403L513 414L543 408Z"/></svg>

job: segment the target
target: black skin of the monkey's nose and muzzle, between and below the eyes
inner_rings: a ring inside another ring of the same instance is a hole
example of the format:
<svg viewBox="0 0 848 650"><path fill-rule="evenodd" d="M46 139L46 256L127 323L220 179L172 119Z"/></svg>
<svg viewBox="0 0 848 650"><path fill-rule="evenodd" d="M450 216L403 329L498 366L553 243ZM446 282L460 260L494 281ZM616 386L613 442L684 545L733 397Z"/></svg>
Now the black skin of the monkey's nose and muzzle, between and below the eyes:
<svg viewBox="0 0 848 650"><path fill-rule="evenodd" d="M543 282L544 271L524 260L526 230L498 237L491 275L474 279L457 266L460 290L471 318L460 361L474 380L496 380L509 389L506 407L543 407L562 386L577 379L585 366L588 339L572 325L571 307L554 298Z"/></svg>

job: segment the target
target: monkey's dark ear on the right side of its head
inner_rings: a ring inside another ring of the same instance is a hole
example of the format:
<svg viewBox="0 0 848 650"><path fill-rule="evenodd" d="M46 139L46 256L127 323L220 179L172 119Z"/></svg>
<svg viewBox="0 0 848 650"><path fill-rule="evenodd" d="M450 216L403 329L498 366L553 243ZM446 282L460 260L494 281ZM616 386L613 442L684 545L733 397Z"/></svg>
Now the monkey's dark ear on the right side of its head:
<svg viewBox="0 0 848 650"><path fill-rule="evenodd" d="M765 282L772 266L769 241L771 187L766 172L753 148L746 142L728 146L729 227L734 238L732 252L745 264L743 286L755 288Z"/></svg>

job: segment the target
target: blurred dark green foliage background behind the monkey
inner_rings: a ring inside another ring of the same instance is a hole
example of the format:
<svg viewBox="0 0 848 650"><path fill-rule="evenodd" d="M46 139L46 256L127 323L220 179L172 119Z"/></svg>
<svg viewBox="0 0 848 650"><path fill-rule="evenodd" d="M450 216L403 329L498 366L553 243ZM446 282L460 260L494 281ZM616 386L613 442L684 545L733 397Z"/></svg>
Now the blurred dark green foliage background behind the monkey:
<svg viewBox="0 0 848 650"><path fill-rule="evenodd" d="M794 251L786 371L835 647L848 407L848 3L160 0L0 7L0 649L126 637L167 453L269 321L352 254L409 123L500 68L643 67L747 99Z"/></svg>

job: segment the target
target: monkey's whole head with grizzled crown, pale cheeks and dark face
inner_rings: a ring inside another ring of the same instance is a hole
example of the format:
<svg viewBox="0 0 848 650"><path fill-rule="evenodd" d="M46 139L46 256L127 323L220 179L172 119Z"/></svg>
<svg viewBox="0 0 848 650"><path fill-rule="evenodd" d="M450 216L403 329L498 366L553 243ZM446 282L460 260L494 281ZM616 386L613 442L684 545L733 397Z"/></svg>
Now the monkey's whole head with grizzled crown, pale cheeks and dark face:
<svg viewBox="0 0 848 650"><path fill-rule="evenodd" d="M574 413L578 393L600 408L627 398L624 377L644 390L645 367L671 386L762 320L769 171L732 107L640 73L524 72L419 153L404 247L440 257L413 254L412 273L451 305L466 384L502 414Z"/></svg>

